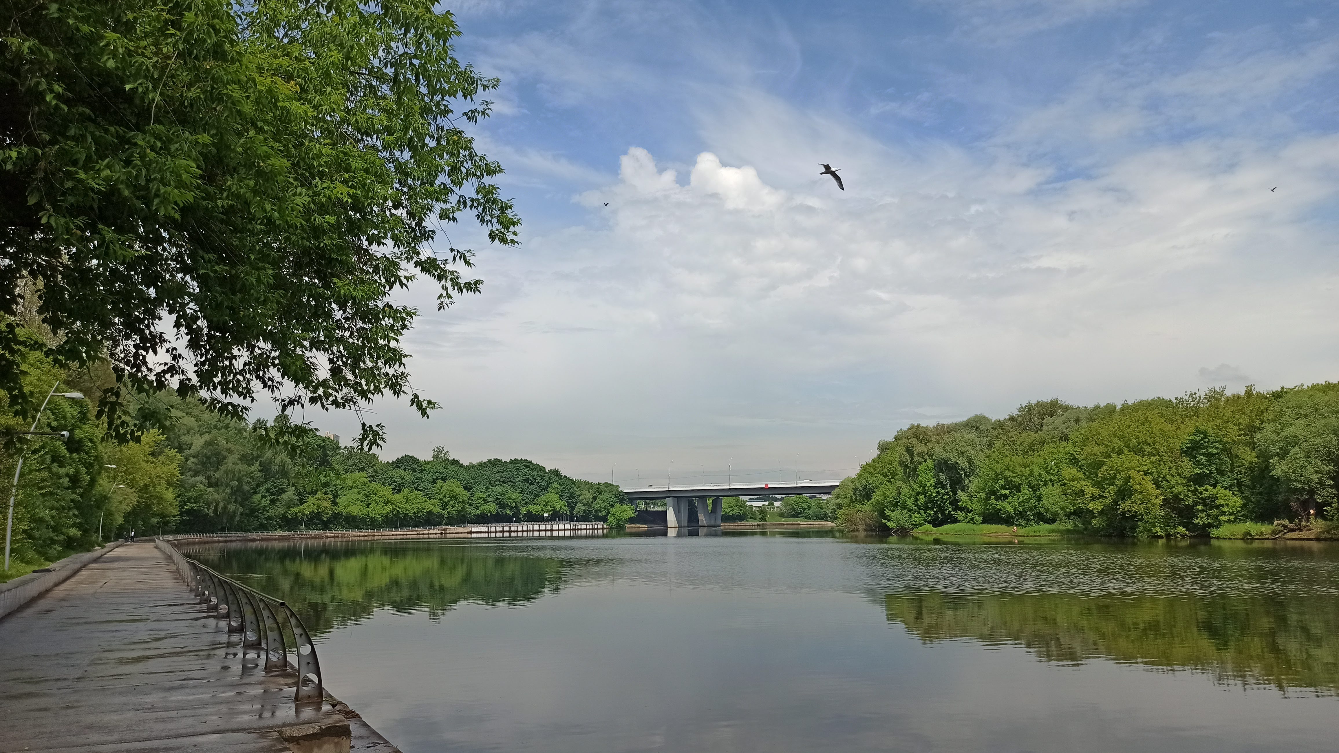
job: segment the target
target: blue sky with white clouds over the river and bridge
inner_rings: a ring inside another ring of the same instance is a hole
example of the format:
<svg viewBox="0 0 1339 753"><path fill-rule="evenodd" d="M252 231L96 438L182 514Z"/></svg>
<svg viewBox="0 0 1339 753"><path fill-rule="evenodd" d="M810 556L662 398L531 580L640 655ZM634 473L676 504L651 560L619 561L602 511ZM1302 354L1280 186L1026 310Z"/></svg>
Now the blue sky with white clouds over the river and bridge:
<svg viewBox="0 0 1339 753"><path fill-rule="evenodd" d="M446 409L379 405L391 457L842 476L909 422L1339 375L1334 3L451 9L524 243L407 296Z"/></svg>

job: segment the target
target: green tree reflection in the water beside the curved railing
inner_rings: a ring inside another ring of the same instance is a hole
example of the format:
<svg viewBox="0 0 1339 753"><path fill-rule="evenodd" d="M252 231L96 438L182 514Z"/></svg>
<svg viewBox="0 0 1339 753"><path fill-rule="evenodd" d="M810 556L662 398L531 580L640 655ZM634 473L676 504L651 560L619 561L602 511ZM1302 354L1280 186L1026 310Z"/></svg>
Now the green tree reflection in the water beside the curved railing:
<svg viewBox="0 0 1339 753"><path fill-rule="evenodd" d="M459 602L524 604L557 590L564 563L491 545L379 541L220 547L189 556L284 599L313 634L360 622L376 607L430 619Z"/></svg>

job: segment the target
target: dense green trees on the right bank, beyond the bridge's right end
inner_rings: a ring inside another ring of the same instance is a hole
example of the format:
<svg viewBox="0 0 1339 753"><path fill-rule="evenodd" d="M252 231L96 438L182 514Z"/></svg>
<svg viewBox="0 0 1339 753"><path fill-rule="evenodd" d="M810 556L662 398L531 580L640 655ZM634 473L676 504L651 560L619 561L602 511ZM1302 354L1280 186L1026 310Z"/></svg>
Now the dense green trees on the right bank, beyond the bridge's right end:
<svg viewBox="0 0 1339 753"><path fill-rule="evenodd" d="M833 496L857 529L1069 524L1193 536L1236 521L1339 517L1339 385L1023 405L912 425Z"/></svg>

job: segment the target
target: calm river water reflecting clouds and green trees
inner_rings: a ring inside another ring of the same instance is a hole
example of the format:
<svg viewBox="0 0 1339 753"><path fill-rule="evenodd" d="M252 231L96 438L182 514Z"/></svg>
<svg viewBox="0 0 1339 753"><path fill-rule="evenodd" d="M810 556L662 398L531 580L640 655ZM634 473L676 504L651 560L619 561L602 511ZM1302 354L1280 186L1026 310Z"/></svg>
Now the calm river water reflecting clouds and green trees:
<svg viewBox="0 0 1339 753"><path fill-rule="evenodd" d="M719 537L201 549L406 753L1339 748L1339 545Z"/></svg>

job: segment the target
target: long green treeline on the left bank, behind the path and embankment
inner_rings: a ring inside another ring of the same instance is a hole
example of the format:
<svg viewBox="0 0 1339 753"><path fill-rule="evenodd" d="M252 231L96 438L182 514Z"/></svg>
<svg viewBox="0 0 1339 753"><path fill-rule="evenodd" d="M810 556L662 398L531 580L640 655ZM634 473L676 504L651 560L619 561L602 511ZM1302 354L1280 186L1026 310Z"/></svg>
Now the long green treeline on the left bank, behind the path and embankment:
<svg viewBox="0 0 1339 753"><path fill-rule="evenodd" d="M84 397L52 398L42 411L37 430L70 431L62 441L24 437L39 405L11 402L0 390L0 473L13 478L24 458L13 528L20 567L9 576L130 531L390 528L544 516L619 525L632 513L613 484L528 460L463 464L438 448L431 460L383 462L283 415L246 423L173 393L134 406L158 414L166 431L118 443L94 409L110 372L59 368L33 348L24 354L21 379L39 405L56 385Z"/></svg>

